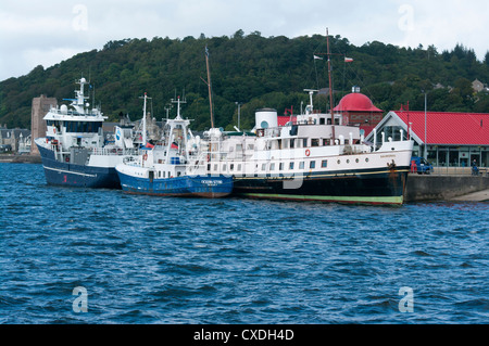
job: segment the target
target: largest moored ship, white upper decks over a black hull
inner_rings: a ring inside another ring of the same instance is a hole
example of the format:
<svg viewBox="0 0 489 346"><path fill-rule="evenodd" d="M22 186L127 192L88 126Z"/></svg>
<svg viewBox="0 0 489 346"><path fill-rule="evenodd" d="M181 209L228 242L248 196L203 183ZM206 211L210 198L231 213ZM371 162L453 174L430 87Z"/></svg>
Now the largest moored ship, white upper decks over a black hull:
<svg viewBox="0 0 489 346"><path fill-rule="evenodd" d="M275 110L263 108L251 134L210 138L209 146L218 149L208 155L210 171L231 175L237 196L402 205L413 141L401 130L400 141L383 133L379 143L368 143L360 127L339 124L333 106L330 114L316 112L315 90L308 91L305 112L285 126L278 126Z"/></svg>

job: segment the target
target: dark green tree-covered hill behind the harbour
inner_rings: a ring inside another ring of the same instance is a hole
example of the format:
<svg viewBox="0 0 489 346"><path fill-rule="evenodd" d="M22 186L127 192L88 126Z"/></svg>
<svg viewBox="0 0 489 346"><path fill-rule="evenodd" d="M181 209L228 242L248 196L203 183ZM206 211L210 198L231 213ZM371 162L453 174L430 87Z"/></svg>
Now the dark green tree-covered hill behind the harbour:
<svg viewBox="0 0 489 346"><path fill-rule="evenodd" d="M388 112L410 102L412 110L489 112L489 97L476 94L472 81L489 82L489 52L479 62L472 49L456 44L452 51L399 48L374 41L355 47L347 38L330 38L335 104L360 86L379 108ZM259 31L231 37L125 39L108 42L102 50L77 54L49 68L37 66L28 75L0 82L0 124L30 127L32 100L40 94L58 102L73 98L75 80L90 79L90 102L100 104L110 120L118 114L131 119L142 115L145 92L152 98L149 111L166 117L171 99L185 97L183 115L193 119L192 129L210 127L210 106L204 49L209 48L215 125L231 129L241 104L241 127L251 128L254 110L275 107L279 114L308 102L303 89L328 87L327 62L314 55L326 52L326 37L262 37ZM344 56L354 61L344 63ZM322 111L328 98L317 95ZM67 103L67 102L64 102ZM176 110L170 111L174 117Z"/></svg>

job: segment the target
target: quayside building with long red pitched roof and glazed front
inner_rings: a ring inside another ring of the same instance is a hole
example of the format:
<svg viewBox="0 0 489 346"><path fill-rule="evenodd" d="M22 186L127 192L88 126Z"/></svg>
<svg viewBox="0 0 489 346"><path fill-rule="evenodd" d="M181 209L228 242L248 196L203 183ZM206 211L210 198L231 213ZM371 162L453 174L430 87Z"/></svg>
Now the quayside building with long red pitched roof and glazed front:
<svg viewBox="0 0 489 346"><path fill-rule="evenodd" d="M425 120L426 119L426 120ZM475 159L489 166L489 114L424 111L391 111L376 127L376 141L403 137L415 142L415 156L426 157L434 166L468 167ZM373 142L374 132L366 140Z"/></svg>

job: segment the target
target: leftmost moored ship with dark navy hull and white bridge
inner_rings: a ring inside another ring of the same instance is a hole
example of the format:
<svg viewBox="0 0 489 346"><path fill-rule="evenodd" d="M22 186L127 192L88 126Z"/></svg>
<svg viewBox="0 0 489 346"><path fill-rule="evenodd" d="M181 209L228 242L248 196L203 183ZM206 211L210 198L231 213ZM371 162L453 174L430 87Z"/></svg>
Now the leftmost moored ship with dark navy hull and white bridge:
<svg viewBox="0 0 489 346"><path fill-rule="evenodd" d="M102 124L106 119L100 108L88 108L85 86L80 78L76 99L52 107L45 116L47 133L37 138L48 184L121 189L115 166L137 153L133 126L116 126L114 143L104 138Z"/></svg>

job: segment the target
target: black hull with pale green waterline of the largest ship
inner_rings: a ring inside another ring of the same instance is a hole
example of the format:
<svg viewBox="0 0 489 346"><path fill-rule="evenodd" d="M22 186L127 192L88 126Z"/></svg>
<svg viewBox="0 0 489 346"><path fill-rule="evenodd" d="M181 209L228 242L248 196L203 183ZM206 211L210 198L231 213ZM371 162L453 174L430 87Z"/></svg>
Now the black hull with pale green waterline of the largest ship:
<svg viewBox="0 0 489 346"><path fill-rule="evenodd" d="M409 167L344 170L303 177L235 178L234 195L289 201L402 205Z"/></svg>

